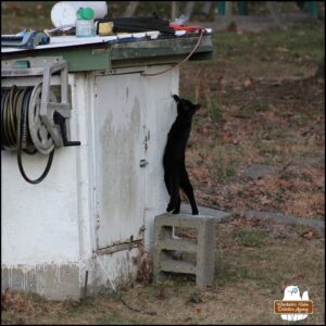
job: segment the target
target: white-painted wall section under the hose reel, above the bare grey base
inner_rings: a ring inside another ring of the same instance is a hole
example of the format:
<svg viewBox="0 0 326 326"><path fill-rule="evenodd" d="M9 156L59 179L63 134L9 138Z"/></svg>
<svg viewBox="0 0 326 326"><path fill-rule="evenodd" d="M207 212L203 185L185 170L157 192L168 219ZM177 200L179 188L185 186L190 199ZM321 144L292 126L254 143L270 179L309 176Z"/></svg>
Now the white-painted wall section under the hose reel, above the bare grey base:
<svg viewBox="0 0 326 326"><path fill-rule="evenodd" d="M57 150L51 171L40 185L23 179L15 152L1 153L2 264L78 260L77 150ZM24 155L23 162L27 175L36 177L47 159Z"/></svg>

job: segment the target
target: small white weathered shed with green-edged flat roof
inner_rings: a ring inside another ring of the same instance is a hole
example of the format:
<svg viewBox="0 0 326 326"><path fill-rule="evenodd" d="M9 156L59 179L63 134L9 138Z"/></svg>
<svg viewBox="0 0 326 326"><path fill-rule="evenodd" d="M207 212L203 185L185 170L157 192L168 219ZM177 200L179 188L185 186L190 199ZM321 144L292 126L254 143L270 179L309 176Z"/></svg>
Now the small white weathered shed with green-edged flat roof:
<svg viewBox="0 0 326 326"><path fill-rule="evenodd" d="M80 146L55 149L48 176L25 181L15 151L3 150L1 177L2 290L34 291L49 299L79 299L135 279L138 247L151 251L154 216L165 211L162 156L176 116L172 95L179 67L199 35L128 38L53 37L33 50L2 48L3 70L68 65L68 138ZM212 57L205 32L190 60ZM168 70L163 74L149 76ZM21 70L21 72L24 70ZM146 75L147 74L147 75ZM1 88L35 86L41 76L7 74ZM60 92L62 79L51 78ZM23 155L37 177L47 155Z"/></svg>

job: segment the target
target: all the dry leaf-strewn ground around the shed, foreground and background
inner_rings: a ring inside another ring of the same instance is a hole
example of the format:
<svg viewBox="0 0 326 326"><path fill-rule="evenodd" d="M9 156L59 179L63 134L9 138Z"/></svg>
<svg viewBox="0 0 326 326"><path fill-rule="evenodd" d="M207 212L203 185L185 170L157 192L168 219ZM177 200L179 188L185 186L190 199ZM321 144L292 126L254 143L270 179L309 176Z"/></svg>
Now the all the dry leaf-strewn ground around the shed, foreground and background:
<svg viewBox="0 0 326 326"><path fill-rule="evenodd" d="M2 28L16 30L24 25L22 7L9 9ZM40 14L38 22L46 20ZM1 298L2 324L283 325L273 302L289 285L308 290L314 302L314 313L298 324L325 323L324 229L242 216L254 210L325 218L325 80L315 77L325 59L324 23L265 33L235 25L215 33L213 43L213 60L181 66L180 95L202 104L187 149L198 203L235 217L216 227L214 285L201 291L191 277L174 275L122 288L141 312L109 290L80 302L9 290ZM274 173L252 178L246 171L254 164Z"/></svg>

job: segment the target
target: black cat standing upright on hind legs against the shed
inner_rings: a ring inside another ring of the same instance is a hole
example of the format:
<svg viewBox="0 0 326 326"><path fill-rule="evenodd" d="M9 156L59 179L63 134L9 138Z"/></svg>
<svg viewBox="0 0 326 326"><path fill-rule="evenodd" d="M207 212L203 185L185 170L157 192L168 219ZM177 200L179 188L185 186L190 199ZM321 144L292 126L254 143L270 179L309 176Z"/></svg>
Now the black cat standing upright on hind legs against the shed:
<svg viewBox="0 0 326 326"><path fill-rule="evenodd" d="M173 211L173 214L180 212L181 200L179 188L181 188L189 199L192 215L198 215L199 212L195 201L193 189L186 171L185 152L190 135L192 116L200 109L200 104L192 104L190 101L180 99L176 95L173 98L177 103L177 117L167 135L163 156L164 181L170 195L170 203L166 212Z"/></svg>

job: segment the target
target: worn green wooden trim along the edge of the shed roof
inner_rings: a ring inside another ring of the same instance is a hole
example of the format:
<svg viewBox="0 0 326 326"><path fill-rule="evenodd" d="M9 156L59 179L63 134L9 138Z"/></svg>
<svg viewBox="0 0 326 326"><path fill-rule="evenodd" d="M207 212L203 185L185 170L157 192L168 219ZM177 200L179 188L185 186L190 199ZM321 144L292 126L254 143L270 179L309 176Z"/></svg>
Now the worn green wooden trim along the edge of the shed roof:
<svg viewBox="0 0 326 326"><path fill-rule="evenodd" d="M121 43L96 43L72 48L42 49L2 53L2 60L26 57L62 57L68 61L71 73L111 70L113 62L147 64L183 60L196 46L197 37L179 37L156 40L139 40ZM211 36L203 36L201 45L190 60L209 60L213 57ZM116 66L116 64L114 64Z"/></svg>

